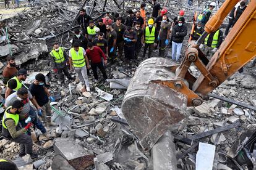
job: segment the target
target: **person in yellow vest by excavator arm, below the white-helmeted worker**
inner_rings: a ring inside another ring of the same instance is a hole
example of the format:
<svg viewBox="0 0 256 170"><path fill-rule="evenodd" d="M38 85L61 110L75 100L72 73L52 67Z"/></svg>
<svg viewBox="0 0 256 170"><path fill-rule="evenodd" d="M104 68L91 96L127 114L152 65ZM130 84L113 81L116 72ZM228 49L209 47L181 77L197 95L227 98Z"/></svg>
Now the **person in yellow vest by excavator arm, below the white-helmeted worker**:
<svg viewBox="0 0 256 170"><path fill-rule="evenodd" d="M208 34L208 36L205 38L205 47L203 48L203 53L211 57L218 50L222 41L223 32L218 28L218 30Z"/></svg>

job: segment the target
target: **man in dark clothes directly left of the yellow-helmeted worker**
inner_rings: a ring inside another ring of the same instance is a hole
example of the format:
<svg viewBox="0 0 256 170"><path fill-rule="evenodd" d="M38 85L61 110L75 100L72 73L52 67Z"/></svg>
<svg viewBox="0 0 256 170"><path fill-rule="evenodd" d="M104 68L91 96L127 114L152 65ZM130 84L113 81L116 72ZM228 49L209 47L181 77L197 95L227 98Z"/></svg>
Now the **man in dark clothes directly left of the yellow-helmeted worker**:
<svg viewBox="0 0 256 170"><path fill-rule="evenodd" d="M137 59L139 52L142 49L142 44L144 42L144 31L140 27L140 23L136 23L132 30L134 30L137 33L137 41L135 44L135 59Z"/></svg>

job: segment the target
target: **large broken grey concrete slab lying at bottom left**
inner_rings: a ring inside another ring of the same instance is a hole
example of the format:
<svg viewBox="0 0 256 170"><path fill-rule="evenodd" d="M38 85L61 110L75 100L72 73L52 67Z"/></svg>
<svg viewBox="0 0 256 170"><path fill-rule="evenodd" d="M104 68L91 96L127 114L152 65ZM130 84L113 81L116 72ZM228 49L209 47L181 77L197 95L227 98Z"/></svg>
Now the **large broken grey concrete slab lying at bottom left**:
<svg viewBox="0 0 256 170"><path fill-rule="evenodd" d="M54 152L62 155L67 161L90 155L85 148L70 138L54 139Z"/></svg>

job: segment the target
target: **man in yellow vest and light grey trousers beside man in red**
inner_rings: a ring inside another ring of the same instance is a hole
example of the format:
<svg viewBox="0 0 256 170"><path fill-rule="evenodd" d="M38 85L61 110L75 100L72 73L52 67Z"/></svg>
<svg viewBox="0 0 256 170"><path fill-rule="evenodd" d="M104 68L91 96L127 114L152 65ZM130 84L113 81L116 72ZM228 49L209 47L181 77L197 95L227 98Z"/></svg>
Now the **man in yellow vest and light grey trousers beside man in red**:
<svg viewBox="0 0 256 170"><path fill-rule="evenodd" d="M89 61L83 47L79 47L77 42L74 43L72 49L69 50L69 66L70 70L74 70L79 76L81 84L85 84L86 91L90 92L90 85L87 76L87 69L90 68Z"/></svg>

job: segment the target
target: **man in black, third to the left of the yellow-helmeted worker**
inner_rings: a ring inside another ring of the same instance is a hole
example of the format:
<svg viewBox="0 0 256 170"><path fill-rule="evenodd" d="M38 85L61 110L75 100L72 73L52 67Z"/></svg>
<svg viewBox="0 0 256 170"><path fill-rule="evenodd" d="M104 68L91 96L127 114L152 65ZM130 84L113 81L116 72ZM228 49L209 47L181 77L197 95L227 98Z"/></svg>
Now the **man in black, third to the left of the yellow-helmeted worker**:
<svg viewBox="0 0 256 170"><path fill-rule="evenodd" d="M113 25L112 25L113 29L117 33L116 47L118 49L118 58L119 59L122 58L122 51L124 50L124 38L122 37L122 35L124 34L124 31L126 31L126 26L124 24L122 24L121 22L122 22L122 18L118 17L116 19L116 22L113 23Z"/></svg>

